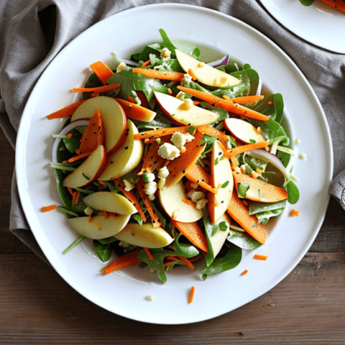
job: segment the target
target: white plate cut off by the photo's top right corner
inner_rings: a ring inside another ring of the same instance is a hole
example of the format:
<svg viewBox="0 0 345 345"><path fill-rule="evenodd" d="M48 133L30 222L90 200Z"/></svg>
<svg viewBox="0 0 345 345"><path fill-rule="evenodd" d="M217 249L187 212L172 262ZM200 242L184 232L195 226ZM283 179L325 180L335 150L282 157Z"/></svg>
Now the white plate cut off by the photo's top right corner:
<svg viewBox="0 0 345 345"><path fill-rule="evenodd" d="M332 52L345 53L345 14L315 0L304 6L299 0L260 0L288 30Z"/></svg>

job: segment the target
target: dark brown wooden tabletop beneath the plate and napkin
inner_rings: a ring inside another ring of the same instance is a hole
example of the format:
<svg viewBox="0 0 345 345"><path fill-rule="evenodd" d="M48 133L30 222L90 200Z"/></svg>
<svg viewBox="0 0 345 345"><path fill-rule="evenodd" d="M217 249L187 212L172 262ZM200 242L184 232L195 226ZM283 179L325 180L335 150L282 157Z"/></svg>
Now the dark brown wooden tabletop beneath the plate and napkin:
<svg viewBox="0 0 345 345"><path fill-rule="evenodd" d="M275 288L226 315L160 326L113 315L10 233L14 150L0 130L0 344L345 344L345 212L331 199L313 246Z"/></svg>

